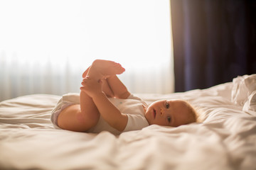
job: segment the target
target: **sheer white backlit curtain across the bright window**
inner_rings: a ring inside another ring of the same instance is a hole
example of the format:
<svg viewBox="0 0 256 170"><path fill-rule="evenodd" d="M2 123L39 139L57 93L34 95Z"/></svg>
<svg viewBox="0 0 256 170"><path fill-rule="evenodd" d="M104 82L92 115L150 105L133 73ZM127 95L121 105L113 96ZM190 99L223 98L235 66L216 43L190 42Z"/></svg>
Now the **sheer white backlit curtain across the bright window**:
<svg viewBox="0 0 256 170"><path fill-rule="evenodd" d="M132 93L171 93L169 0L0 0L0 101L79 92L95 59Z"/></svg>

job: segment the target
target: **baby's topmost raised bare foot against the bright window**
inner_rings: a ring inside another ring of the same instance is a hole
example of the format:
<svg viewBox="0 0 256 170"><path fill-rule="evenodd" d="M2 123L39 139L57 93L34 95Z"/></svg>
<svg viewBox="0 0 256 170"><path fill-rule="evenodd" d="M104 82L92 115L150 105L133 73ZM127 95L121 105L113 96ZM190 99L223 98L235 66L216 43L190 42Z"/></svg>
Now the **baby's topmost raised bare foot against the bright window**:
<svg viewBox="0 0 256 170"><path fill-rule="evenodd" d="M87 76L95 77L95 79L102 79L103 77L122 74L125 69L121 64L117 62L112 62L109 60L95 60L92 62Z"/></svg>

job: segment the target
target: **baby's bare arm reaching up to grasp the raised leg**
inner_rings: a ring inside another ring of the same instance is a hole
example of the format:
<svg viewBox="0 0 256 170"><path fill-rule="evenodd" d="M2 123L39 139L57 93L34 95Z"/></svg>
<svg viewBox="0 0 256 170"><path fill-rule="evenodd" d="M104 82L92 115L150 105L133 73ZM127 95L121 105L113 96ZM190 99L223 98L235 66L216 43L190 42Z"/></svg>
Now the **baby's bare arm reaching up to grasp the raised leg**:
<svg viewBox="0 0 256 170"><path fill-rule="evenodd" d="M95 81L95 79L90 79L90 77L86 77L83 79L80 89L85 91L87 95L92 98L100 115L102 115L102 118L104 118L109 125L120 132L124 130L128 121L127 115L122 114L107 99L107 96L102 92L102 85L99 82Z"/></svg>

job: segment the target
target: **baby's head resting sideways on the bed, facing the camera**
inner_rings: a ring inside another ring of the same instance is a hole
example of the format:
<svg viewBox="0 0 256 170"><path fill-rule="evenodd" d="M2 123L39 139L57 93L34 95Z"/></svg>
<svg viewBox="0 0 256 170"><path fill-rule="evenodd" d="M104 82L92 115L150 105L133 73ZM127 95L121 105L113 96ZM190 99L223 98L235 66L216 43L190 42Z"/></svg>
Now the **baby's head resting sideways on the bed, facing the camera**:
<svg viewBox="0 0 256 170"><path fill-rule="evenodd" d="M196 122L195 109L183 100L155 101L146 108L146 120L149 125L164 125L178 127Z"/></svg>

